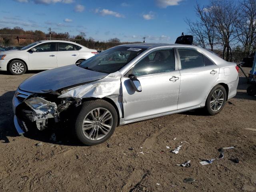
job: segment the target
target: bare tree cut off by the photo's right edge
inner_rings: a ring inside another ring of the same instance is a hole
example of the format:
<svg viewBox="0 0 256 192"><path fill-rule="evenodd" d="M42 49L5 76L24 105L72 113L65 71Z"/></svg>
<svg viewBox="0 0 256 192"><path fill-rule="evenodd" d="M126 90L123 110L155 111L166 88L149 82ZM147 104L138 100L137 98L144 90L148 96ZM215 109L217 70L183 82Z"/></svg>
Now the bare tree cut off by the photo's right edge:
<svg viewBox="0 0 256 192"><path fill-rule="evenodd" d="M256 50L256 0L244 0L241 5L236 32L239 42L244 46L245 56L249 56Z"/></svg>

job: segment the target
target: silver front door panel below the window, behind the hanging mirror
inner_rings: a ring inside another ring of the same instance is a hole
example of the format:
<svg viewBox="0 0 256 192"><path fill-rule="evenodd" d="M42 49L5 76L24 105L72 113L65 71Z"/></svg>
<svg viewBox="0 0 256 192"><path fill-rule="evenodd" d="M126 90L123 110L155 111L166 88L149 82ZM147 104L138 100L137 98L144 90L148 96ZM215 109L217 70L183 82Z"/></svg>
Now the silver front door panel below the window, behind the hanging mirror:
<svg viewBox="0 0 256 192"><path fill-rule="evenodd" d="M176 80L170 80L176 77ZM180 72L137 77L142 92L136 92L129 78L122 77L124 120L133 120L177 110Z"/></svg>

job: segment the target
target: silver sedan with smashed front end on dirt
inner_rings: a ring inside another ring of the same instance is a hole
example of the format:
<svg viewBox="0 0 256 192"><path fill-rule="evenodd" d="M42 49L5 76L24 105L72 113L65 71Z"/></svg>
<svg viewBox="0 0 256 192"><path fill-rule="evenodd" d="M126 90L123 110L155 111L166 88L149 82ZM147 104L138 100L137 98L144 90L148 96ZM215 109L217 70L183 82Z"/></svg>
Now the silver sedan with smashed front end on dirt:
<svg viewBox="0 0 256 192"><path fill-rule="evenodd" d="M205 108L222 110L236 95L236 64L182 44L125 44L82 63L40 72L13 98L19 134L68 126L86 145L117 126Z"/></svg>

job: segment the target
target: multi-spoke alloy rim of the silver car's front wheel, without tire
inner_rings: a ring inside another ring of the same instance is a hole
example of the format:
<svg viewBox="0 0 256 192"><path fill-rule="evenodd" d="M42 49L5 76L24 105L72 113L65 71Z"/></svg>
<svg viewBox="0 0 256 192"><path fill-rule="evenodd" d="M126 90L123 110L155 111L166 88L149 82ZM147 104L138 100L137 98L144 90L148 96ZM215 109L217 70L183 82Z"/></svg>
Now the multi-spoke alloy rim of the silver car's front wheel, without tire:
<svg viewBox="0 0 256 192"><path fill-rule="evenodd" d="M113 117L105 108L95 108L84 118L82 131L90 140L100 140L110 132L113 125Z"/></svg>

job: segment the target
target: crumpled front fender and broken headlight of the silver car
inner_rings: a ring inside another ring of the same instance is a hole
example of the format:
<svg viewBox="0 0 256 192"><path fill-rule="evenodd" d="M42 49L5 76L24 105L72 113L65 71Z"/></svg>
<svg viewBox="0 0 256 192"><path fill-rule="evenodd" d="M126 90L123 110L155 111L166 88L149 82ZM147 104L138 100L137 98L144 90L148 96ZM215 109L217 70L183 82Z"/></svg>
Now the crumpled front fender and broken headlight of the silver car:
<svg viewBox="0 0 256 192"><path fill-rule="evenodd" d="M49 97L44 97L45 94L34 95L24 101L32 110L23 110L23 112L31 122L36 122L39 130L48 126L48 119L53 119L54 122L62 121L60 114L68 110L70 106L79 106L83 98L110 98L116 103L120 112L122 111L120 78L120 72L115 72L101 80L62 91L63 94L46 93L55 98L54 102Z"/></svg>

